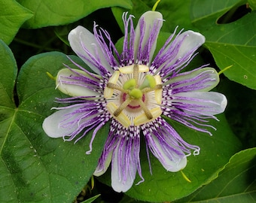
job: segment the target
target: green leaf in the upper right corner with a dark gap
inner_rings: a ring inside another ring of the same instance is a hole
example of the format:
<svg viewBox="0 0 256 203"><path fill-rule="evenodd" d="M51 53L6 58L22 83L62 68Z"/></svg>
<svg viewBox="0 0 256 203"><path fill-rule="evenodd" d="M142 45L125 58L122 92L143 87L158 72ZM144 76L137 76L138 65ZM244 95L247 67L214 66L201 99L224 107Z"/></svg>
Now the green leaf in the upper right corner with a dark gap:
<svg viewBox="0 0 256 203"><path fill-rule="evenodd" d="M217 24L227 11L237 8L245 1L193 1L192 20L206 36L206 47L211 51L216 64L224 69L233 65L224 74L237 83L256 89L256 12L251 12L233 23Z"/></svg>

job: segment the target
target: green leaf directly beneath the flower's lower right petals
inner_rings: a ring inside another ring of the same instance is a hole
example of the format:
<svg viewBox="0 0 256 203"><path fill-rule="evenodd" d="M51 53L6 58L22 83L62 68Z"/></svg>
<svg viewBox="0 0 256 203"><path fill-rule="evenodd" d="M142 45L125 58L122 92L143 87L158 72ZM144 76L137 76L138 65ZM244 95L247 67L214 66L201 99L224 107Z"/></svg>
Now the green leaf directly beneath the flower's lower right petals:
<svg viewBox="0 0 256 203"><path fill-rule="evenodd" d="M143 201L174 201L215 179L230 156L239 150L239 141L231 132L224 116L220 116L219 120L221 120L219 123L211 122L212 126L217 128L216 132L212 132L211 137L167 119L185 141L201 148L200 155L187 158L187 166L182 170L191 183L184 179L181 171L177 173L166 171L153 156L151 156L151 175L145 150L142 150L142 175L145 182L134 185L126 194ZM138 177L135 183L139 180Z"/></svg>

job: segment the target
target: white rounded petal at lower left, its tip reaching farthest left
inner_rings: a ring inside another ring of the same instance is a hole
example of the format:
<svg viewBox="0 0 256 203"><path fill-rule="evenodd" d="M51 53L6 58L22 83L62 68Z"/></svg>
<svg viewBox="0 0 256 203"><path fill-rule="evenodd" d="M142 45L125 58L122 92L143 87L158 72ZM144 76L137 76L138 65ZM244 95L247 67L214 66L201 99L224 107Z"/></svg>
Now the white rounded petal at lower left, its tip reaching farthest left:
<svg viewBox="0 0 256 203"><path fill-rule="evenodd" d="M61 138L66 135L70 135L72 132L75 131L78 125L72 126L72 128L63 128L60 123L62 122L62 120L65 119L66 114L70 114L76 111L77 109L78 107L67 108L67 109L56 111L55 113L51 114L49 117L44 119L44 123L43 123L44 132L50 138ZM76 117L76 114L69 120L74 119L74 117Z"/></svg>

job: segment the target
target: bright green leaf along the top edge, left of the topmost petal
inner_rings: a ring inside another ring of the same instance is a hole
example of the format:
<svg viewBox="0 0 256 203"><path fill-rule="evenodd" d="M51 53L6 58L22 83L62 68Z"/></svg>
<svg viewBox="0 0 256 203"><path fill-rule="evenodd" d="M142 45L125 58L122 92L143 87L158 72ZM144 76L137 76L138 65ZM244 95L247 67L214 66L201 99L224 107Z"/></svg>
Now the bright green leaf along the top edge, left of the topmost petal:
<svg viewBox="0 0 256 203"><path fill-rule="evenodd" d="M119 6L129 9L132 7L129 0L18 0L17 2L20 2L21 5L29 8L29 10L35 13L35 16L24 24L26 28L33 29L73 23L93 13L93 11L96 11L99 8Z"/></svg>

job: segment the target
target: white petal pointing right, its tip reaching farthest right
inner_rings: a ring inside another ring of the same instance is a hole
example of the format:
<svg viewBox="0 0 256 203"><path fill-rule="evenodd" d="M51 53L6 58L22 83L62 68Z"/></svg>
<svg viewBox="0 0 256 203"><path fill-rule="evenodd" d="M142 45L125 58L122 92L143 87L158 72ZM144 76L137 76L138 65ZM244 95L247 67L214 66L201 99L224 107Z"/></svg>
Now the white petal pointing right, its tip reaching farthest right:
<svg viewBox="0 0 256 203"><path fill-rule="evenodd" d="M218 92L181 92L173 95L173 102L178 104L195 105L189 108L190 111L183 109L188 114L212 116L221 114L227 107L227 98Z"/></svg>

